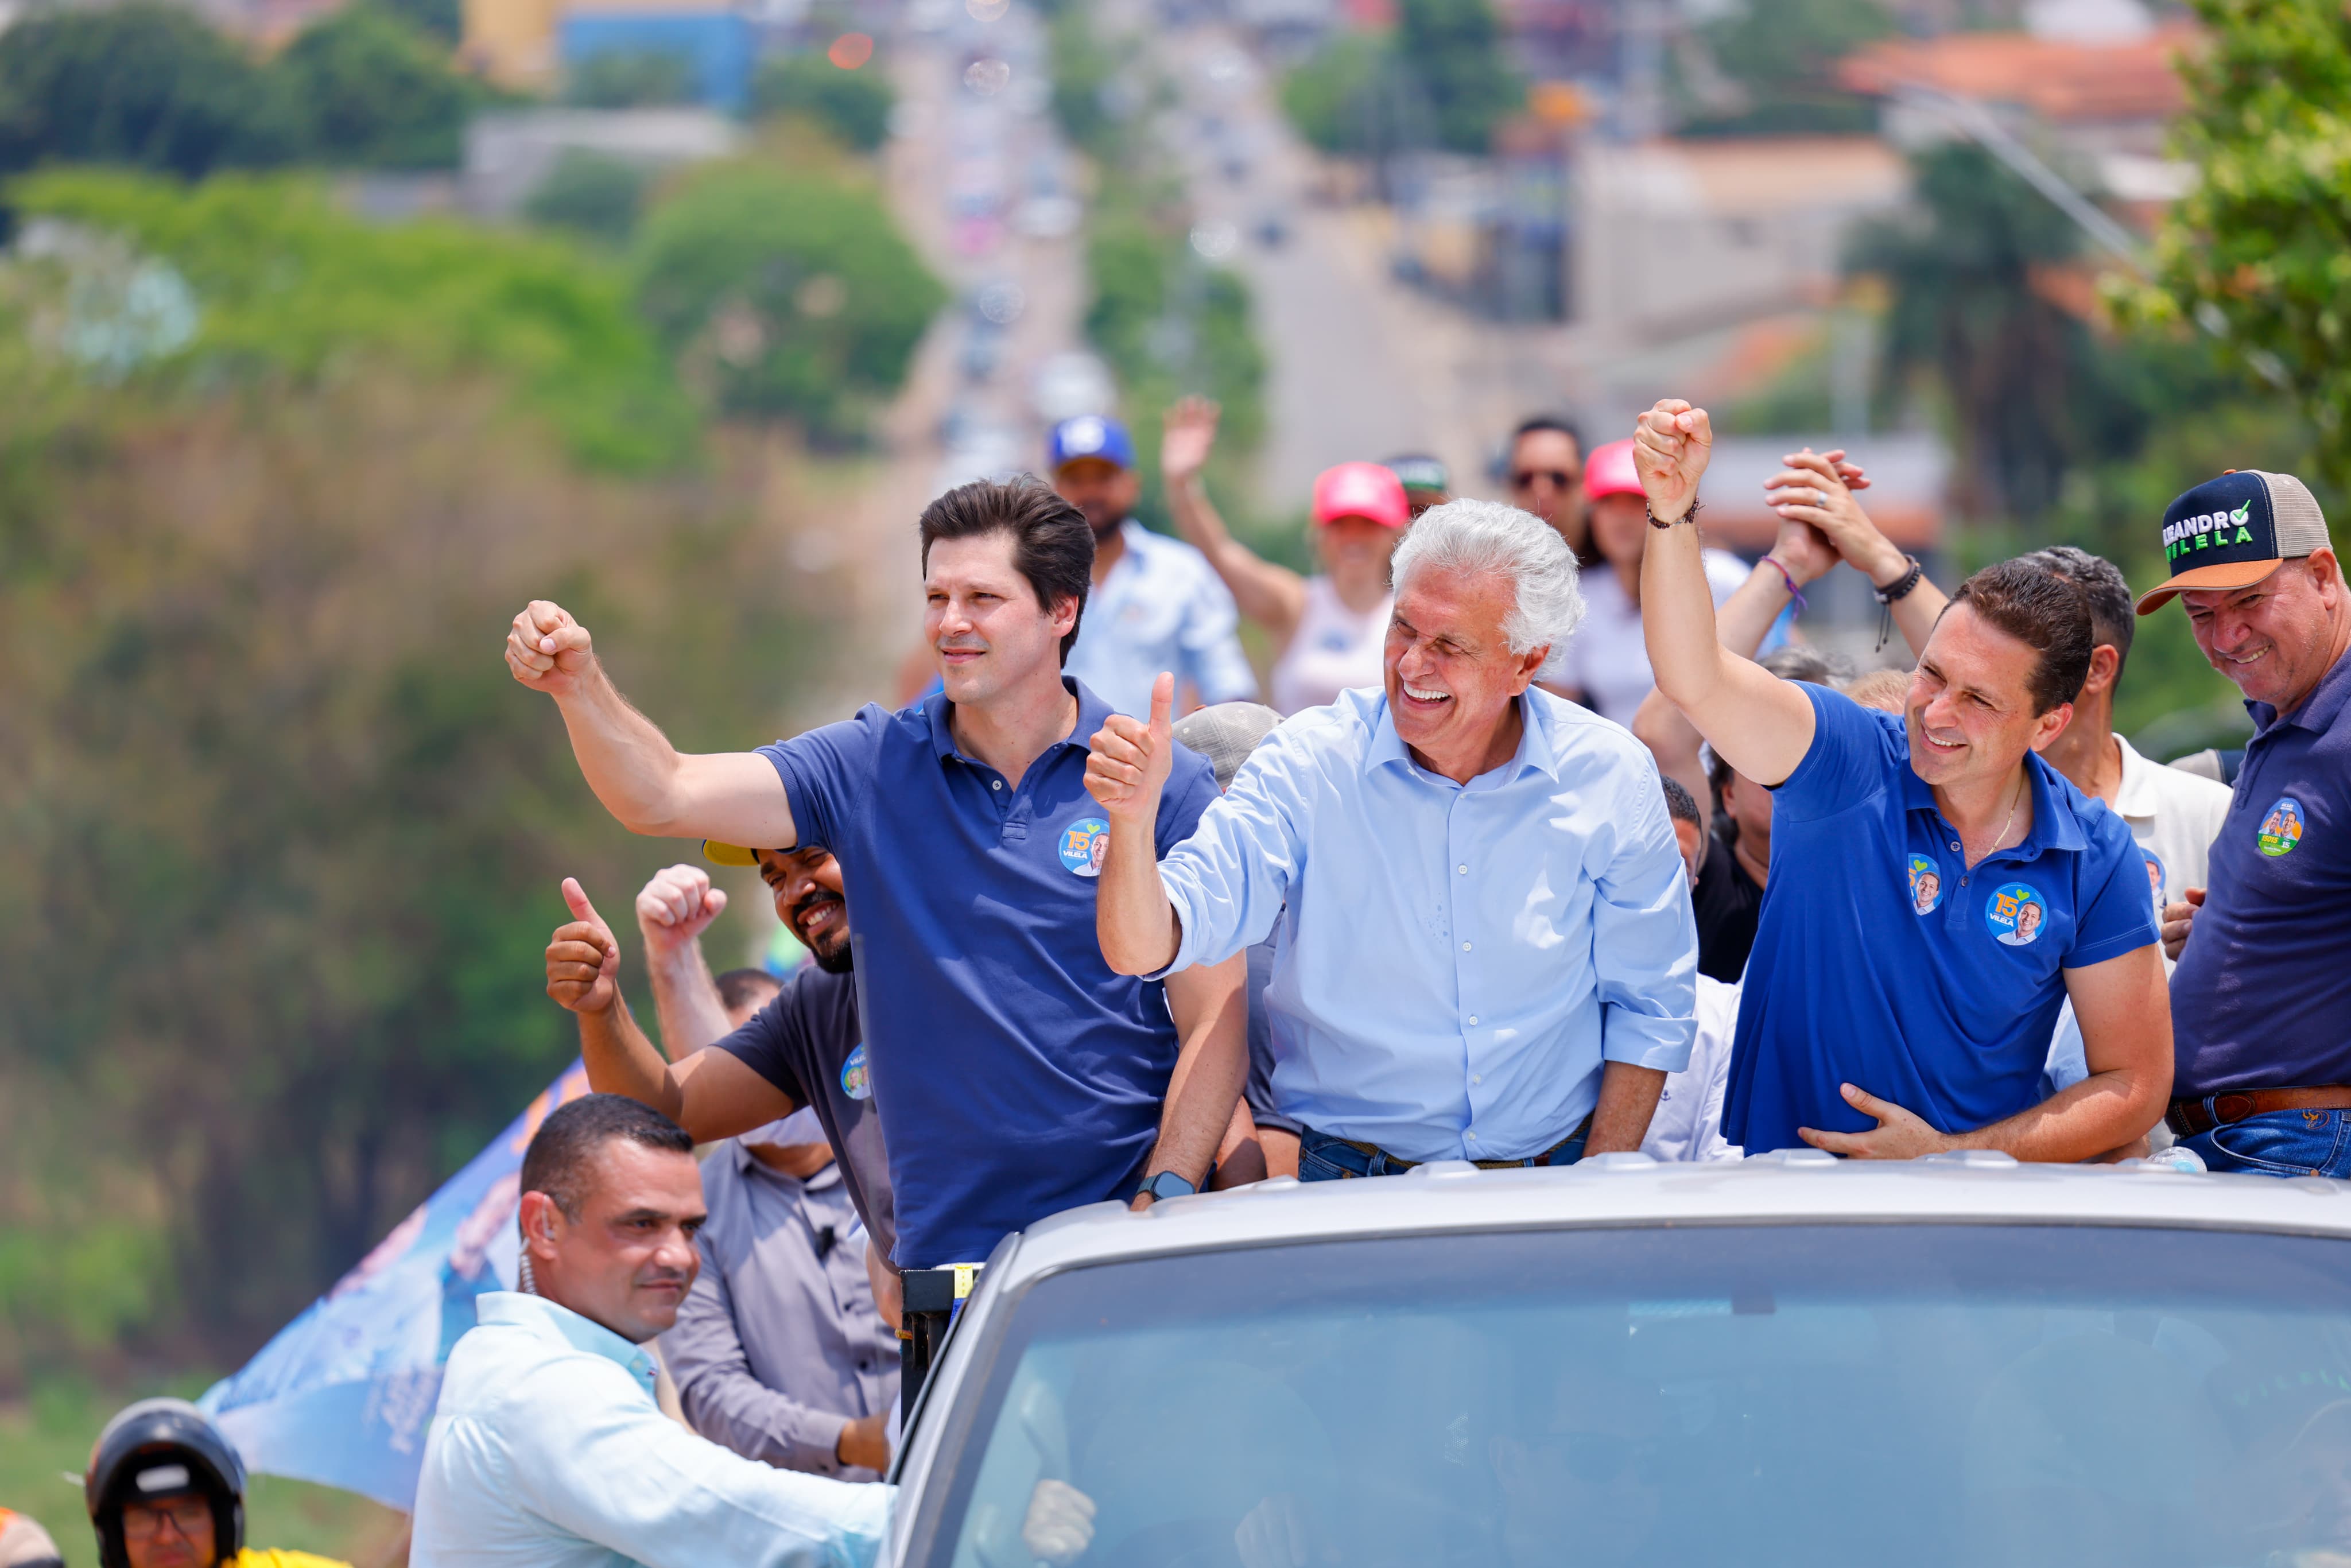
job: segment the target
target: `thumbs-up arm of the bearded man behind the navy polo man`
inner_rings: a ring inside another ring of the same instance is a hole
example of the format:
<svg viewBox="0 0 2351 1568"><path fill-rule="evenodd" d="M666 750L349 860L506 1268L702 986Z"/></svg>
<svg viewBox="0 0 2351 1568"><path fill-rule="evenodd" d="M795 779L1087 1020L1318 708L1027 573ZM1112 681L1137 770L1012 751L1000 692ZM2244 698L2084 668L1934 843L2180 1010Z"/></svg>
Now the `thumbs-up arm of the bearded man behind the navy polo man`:
<svg viewBox="0 0 2351 1568"><path fill-rule="evenodd" d="M621 997L621 943L611 926L574 877L564 877L564 903L574 919L548 940L548 997L581 1020L590 1088L651 1105L696 1143L734 1138L799 1110L729 1051L696 1048L677 1063L661 1060Z"/></svg>

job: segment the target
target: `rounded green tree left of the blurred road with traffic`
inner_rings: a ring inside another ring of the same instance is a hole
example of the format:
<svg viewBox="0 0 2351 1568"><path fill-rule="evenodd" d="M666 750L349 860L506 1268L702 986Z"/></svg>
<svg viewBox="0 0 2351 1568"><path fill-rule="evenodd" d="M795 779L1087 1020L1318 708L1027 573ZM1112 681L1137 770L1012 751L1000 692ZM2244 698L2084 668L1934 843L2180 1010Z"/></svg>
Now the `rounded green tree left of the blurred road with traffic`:
<svg viewBox="0 0 2351 1568"><path fill-rule="evenodd" d="M853 440L905 381L945 287L860 183L717 165L637 233L637 303L719 409Z"/></svg>

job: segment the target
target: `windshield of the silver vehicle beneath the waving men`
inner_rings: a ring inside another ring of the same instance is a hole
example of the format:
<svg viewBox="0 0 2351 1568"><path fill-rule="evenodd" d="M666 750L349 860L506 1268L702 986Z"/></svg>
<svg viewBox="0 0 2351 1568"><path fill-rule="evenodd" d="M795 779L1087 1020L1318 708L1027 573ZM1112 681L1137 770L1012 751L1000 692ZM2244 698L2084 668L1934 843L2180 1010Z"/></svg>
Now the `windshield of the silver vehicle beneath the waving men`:
<svg viewBox="0 0 2351 1568"><path fill-rule="evenodd" d="M940 1568L1032 1568L1041 1479L1105 1568L2351 1563L2351 1241L1267 1246L1046 1276L978 1354Z"/></svg>

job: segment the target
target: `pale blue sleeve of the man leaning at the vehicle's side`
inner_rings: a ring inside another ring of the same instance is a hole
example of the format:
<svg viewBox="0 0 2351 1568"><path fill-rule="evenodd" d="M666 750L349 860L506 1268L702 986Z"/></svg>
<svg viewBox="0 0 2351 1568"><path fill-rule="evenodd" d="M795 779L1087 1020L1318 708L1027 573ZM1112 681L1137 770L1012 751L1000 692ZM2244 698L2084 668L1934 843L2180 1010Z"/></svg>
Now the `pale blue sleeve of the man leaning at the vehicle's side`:
<svg viewBox="0 0 2351 1568"><path fill-rule="evenodd" d="M647 1568L868 1568L889 1530L893 1486L726 1453L632 1396L618 1366L520 1380L501 1429L524 1507Z"/></svg>

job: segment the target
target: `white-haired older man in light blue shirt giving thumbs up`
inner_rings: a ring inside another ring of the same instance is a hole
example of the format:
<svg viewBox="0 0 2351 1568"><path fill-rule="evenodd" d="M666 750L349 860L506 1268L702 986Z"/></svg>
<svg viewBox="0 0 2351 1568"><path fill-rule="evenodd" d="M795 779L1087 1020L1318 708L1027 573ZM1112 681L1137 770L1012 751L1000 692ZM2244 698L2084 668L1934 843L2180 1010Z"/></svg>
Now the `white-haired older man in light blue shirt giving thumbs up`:
<svg viewBox="0 0 2351 1568"><path fill-rule="evenodd" d="M1582 618L1528 512L1432 508L1396 548L1385 689L1293 715L1152 856L1171 679L1093 736L1096 905L1119 973L1274 933L1274 1100L1300 1178L1639 1150L1690 1058L1697 931L1648 750L1531 686Z"/></svg>

